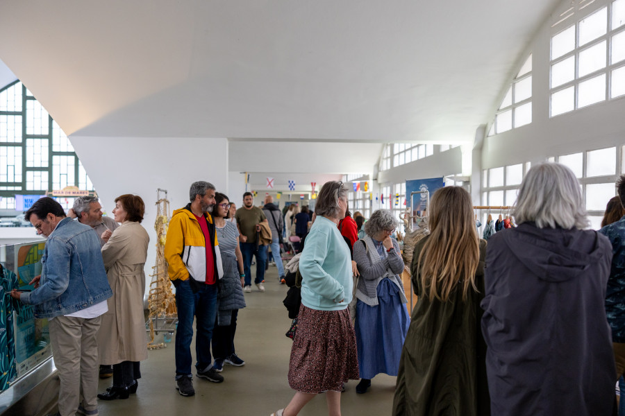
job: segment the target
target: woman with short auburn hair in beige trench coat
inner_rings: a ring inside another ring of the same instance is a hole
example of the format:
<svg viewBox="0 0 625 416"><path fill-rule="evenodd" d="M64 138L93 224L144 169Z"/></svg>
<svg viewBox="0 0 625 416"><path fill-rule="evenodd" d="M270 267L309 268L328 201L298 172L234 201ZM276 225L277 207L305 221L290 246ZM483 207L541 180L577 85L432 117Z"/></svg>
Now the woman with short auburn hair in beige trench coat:
<svg viewBox="0 0 625 416"><path fill-rule="evenodd" d="M147 336L143 314L145 274L143 266L150 238L140 224L145 205L139 196L115 199L115 221L122 223L115 232L104 232L104 267L113 297L102 315L98 332L98 355L103 365L113 365L113 387L99 399L128 399L137 391L141 374L139 361L147 358Z"/></svg>

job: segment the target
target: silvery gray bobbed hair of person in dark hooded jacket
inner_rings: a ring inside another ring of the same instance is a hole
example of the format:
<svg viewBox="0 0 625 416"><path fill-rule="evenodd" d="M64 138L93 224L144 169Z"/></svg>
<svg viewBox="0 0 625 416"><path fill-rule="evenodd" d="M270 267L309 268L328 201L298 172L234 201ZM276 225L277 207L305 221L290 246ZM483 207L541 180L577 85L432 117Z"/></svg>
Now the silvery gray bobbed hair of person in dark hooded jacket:
<svg viewBox="0 0 625 416"><path fill-rule="evenodd" d="M537 164L529 170L512 215L517 223L533 221L538 228L590 226L575 174L567 166L553 162Z"/></svg>

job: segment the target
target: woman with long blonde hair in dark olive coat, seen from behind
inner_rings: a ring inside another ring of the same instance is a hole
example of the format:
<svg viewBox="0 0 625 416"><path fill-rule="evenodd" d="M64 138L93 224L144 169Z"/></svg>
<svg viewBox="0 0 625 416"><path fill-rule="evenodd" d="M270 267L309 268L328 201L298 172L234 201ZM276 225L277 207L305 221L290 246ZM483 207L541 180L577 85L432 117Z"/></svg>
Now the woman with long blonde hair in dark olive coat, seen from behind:
<svg viewBox="0 0 625 416"><path fill-rule="evenodd" d="M403 344L393 415L490 415L480 331L486 241L475 228L471 196L438 189L431 234L412 256L418 297Z"/></svg>

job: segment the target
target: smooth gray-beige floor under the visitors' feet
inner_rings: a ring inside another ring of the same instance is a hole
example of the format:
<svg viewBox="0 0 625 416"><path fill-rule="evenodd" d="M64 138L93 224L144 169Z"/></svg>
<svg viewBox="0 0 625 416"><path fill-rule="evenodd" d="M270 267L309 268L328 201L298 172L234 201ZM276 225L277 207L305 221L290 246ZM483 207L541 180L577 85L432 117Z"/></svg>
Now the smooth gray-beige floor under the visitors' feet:
<svg viewBox="0 0 625 416"><path fill-rule="evenodd" d="M288 404L293 390L287 380L292 341L284 333L290 326L282 304L288 288L278 284L275 266L269 266L265 287L245 294L247 308L239 312L235 347L243 367L224 366L223 383L194 376L195 396L182 397L174 382L174 342L149 352L142 362L136 395L126 400L99 401L101 416L133 415L261 415L269 416ZM192 352L194 354L194 345ZM103 392L111 379L100 381ZM395 377L381 374L365 395L356 394L358 381L347 383L341 395L343 415L390 415ZM303 408L301 416L327 415L326 399L319 395Z"/></svg>

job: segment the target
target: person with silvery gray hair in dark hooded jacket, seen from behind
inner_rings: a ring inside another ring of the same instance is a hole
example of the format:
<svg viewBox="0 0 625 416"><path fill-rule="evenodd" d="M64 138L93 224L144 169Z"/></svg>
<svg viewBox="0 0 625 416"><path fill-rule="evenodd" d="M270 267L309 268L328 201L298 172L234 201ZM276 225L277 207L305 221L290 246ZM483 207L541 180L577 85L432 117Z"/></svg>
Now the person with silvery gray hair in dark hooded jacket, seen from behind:
<svg viewBox="0 0 625 416"><path fill-rule="evenodd" d="M610 415L615 362L604 302L612 246L586 228L574 173L533 166L488 241L482 332L492 415Z"/></svg>

